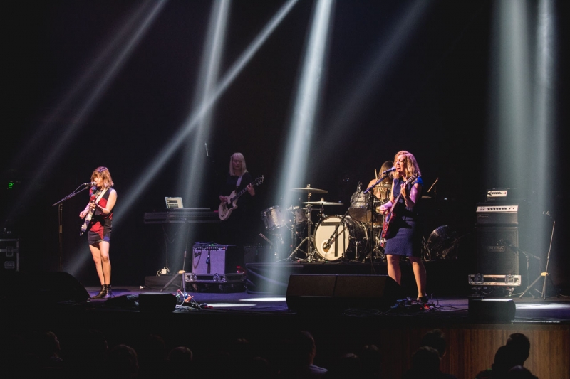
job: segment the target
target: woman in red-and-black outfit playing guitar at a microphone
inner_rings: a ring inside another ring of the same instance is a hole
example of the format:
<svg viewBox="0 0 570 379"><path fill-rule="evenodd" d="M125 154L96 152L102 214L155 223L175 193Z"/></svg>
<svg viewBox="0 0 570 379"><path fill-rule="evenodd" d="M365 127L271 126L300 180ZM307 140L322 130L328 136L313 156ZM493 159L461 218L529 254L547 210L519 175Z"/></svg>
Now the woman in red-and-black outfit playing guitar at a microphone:
<svg viewBox="0 0 570 379"><path fill-rule="evenodd" d="M117 192L113 188L113 179L106 167L100 166L95 169L91 174L91 181L95 183L95 186L91 187L89 191L90 201L86 208L79 213L79 217L86 218L90 215L87 238L101 284L100 292L92 299L109 299L113 297L109 247Z"/></svg>

